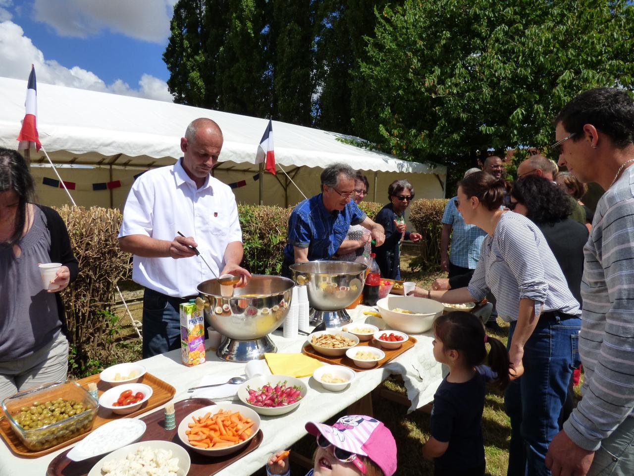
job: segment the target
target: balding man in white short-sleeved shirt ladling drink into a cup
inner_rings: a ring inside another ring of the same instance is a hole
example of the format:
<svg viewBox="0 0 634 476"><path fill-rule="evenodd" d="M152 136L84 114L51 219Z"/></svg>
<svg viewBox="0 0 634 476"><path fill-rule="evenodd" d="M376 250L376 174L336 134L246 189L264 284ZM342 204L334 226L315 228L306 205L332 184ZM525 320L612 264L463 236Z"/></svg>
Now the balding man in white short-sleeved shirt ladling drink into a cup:
<svg viewBox="0 0 634 476"><path fill-rule="evenodd" d="M143 293L143 358L180 346L179 305L198 295L200 282L233 274L243 286L242 230L235 196L210 175L223 147L211 119L195 119L181 138L183 157L147 171L127 197L119 246L133 253L133 280ZM179 236L183 233L184 237Z"/></svg>

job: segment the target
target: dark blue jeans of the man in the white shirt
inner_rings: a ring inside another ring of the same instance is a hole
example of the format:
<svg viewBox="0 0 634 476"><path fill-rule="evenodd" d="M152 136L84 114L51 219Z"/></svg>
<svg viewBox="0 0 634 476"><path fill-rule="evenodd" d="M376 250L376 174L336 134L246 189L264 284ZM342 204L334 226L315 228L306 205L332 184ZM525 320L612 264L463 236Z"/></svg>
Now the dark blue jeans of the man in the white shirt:
<svg viewBox="0 0 634 476"><path fill-rule="evenodd" d="M143 292L143 359L181 347L181 303L189 298L172 298L145 288Z"/></svg>

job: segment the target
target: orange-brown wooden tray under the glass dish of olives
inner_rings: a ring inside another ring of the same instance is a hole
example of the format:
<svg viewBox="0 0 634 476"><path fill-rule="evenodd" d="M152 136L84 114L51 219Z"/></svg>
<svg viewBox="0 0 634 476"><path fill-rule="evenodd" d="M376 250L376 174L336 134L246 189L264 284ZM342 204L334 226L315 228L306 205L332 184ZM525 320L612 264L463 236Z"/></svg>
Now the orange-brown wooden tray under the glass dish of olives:
<svg viewBox="0 0 634 476"><path fill-rule="evenodd" d="M97 390L100 396L101 393L111 388L109 383L100 380L99 374L91 375L89 377L82 378L81 380L77 380L77 383L79 383L79 385L84 388L87 388L88 384L93 382L97 384ZM145 385L149 385L150 387L152 387L152 397L150 397L147 402L141 405L141 407L137 411L134 411L133 413L127 415L116 415L105 408L100 408L94 417L93 428L91 428L89 432L77 435L76 437L61 442L58 445L51 446L47 449L42 449L42 451L31 451L29 448L24 446L22 440L20 440L20 438L18 438L18 435L13 432L13 428L11 428L11 423L9 423L9 420L7 418L3 418L2 420L0 420L0 437L2 437L6 445L11 449L11 451L13 451L16 456L22 456L23 458L37 458L38 456L53 453L53 451L56 451L60 448L68 446L69 444L81 440L82 438L86 437L88 433L92 432L95 428L99 428L104 423L108 423L108 421L119 420L120 418L134 417L140 415L141 413L145 413L148 410L156 408L159 405L169 402L169 400L171 400L174 396L174 393L176 393L176 389L169 385L169 383L160 380L160 378L157 378L152 374L146 373L145 375L143 375L143 377L141 377L141 380L139 380L139 383L145 383Z"/></svg>

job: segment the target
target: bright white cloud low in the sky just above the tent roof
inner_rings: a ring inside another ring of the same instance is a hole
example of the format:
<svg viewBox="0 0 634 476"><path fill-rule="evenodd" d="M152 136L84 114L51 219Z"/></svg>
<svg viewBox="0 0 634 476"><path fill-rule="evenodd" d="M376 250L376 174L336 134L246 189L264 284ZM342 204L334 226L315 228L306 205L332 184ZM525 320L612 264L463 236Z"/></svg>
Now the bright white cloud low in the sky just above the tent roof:
<svg viewBox="0 0 634 476"><path fill-rule="evenodd" d="M0 58L3 58L0 61L0 76L4 77L26 79L29 77L32 63L36 67L37 81L40 83L92 89L93 91L161 101L172 101L173 99L167 91L167 83L150 74L141 76L138 89L131 88L129 84L120 79L108 86L91 71L79 66L68 69L55 60L46 60L44 53L36 48L29 37L24 36L22 28L8 20L0 22Z"/></svg>

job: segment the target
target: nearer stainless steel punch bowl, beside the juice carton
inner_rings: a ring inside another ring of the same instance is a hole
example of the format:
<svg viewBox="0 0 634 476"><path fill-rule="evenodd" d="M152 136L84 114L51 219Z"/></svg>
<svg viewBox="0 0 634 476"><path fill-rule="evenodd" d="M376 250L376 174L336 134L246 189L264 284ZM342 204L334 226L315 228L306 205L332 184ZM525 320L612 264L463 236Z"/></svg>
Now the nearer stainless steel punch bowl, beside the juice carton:
<svg viewBox="0 0 634 476"><path fill-rule="evenodd" d="M276 348L267 335L284 320L295 283L280 276L252 275L244 288L223 297L217 279L198 284L205 301L205 320L228 337L216 354L221 359L244 362L262 359Z"/></svg>

